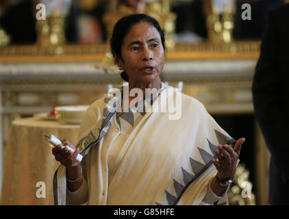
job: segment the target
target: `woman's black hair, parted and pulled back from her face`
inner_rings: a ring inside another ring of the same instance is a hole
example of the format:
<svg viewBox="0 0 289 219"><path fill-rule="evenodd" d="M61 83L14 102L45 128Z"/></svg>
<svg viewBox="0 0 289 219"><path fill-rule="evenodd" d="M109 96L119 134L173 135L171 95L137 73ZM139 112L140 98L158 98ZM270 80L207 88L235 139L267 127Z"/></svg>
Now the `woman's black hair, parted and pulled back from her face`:
<svg viewBox="0 0 289 219"><path fill-rule="evenodd" d="M164 31L161 29L158 21L156 21L155 18L148 16L147 14L131 14L128 16L124 16L114 25L114 30L112 31L112 38L110 38L110 49L112 51L112 54L123 60L123 57L121 55L121 46L123 45L123 40L125 39L125 36L127 36L127 33L129 32L131 27L140 22L150 23L151 25L153 25L153 27L155 27L155 29L158 30L160 38L162 40L162 47L164 48L164 51L166 51ZM125 81L129 81L129 77L127 73L125 73L125 71L121 73L121 78Z"/></svg>

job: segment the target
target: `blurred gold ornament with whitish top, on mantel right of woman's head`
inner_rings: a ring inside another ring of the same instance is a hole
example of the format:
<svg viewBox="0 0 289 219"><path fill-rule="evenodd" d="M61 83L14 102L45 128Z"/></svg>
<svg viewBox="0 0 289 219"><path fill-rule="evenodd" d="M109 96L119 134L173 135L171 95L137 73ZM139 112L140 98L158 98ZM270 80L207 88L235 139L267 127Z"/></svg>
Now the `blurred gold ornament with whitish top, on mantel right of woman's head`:
<svg viewBox="0 0 289 219"><path fill-rule="evenodd" d="M207 16L208 41L212 44L234 42L235 0L206 0L203 10Z"/></svg>

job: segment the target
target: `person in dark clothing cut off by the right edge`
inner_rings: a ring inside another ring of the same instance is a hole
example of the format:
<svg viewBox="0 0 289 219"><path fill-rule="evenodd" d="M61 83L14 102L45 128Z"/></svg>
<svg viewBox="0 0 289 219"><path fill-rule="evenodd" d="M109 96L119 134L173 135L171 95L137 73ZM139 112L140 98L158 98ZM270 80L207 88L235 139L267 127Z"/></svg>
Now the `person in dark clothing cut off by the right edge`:
<svg viewBox="0 0 289 219"><path fill-rule="evenodd" d="M271 152L271 205L289 205L288 21L289 4L269 12L252 88L255 117Z"/></svg>

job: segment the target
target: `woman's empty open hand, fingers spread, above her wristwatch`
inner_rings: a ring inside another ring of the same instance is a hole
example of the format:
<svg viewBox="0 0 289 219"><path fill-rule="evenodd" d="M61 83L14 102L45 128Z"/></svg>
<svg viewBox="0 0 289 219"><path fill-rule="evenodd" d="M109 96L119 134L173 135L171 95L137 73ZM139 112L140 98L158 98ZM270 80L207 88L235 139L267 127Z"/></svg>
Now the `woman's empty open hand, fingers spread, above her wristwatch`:
<svg viewBox="0 0 289 219"><path fill-rule="evenodd" d="M234 149L232 149L227 144L218 145L218 149L216 149L216 157L217 159L212 159L214 166L218 170L217 177L221 181L234 177L238 157L240 156L241 146L244 143L244 138L239 138L235 144Z"/></svg>

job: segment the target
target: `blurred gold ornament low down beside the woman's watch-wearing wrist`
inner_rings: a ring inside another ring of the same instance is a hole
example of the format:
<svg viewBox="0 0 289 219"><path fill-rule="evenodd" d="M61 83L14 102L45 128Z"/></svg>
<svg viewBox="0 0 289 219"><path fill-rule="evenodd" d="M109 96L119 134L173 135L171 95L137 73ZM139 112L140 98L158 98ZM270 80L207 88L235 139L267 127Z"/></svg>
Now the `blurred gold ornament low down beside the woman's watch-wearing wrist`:
<svg viewBox="0 0 289 219"><path fill-rule="evenodd" d="M249 170L239 164L235 173L235 181L228 192L230 205L256 205L253 183L249 181Z"/></svg>

